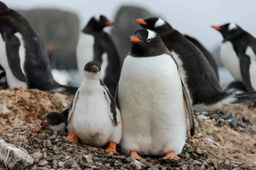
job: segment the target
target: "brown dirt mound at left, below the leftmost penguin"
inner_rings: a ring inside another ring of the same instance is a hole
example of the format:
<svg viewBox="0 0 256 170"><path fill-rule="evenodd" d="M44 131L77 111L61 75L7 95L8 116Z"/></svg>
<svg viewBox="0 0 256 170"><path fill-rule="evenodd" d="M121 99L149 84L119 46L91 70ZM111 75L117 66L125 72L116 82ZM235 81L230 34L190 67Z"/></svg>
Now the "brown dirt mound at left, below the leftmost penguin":
<svg viewBox="0 0 256 170"><path fill-rule="evenodd" d="M71 101L38 89L0 90L0 129L39 124L49 112L68 108Z"/></svg>

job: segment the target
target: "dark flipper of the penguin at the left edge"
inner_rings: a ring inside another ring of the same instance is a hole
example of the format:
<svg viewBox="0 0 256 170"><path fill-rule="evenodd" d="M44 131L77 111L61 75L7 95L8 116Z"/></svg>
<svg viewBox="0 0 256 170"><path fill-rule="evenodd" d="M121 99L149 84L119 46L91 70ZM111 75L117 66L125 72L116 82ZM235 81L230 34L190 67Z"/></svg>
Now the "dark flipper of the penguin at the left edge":
<svg viewBox="0 0 256 170"><path fill-rule="evenodd" d="M20 68L20 40L13 34L4 33L6 44L6 55L12 74L22 82L26 82L26 77Z"/></svg>

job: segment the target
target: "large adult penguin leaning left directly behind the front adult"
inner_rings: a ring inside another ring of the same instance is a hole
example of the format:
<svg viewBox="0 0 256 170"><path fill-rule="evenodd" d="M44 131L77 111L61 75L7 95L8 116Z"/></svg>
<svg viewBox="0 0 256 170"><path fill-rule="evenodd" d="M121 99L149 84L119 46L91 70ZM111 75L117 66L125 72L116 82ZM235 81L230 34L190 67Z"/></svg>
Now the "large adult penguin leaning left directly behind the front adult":
<svg viewBox="0 0 256 170"><path fill-rule="evenodd" d="M137 19L143 28L156 31L175 58L180 77L190 96L194 111L218 111L231 103L255 102L256 94L241 96L222 91L217 76L204 54L186 37L161 18Z"/></svg>

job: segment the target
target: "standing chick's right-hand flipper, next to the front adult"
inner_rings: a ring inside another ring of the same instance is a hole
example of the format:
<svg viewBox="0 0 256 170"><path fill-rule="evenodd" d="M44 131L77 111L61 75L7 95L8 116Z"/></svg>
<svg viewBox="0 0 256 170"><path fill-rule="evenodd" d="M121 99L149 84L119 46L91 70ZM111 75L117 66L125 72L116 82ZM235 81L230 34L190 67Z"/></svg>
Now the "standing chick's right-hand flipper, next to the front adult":
<svg viewBox="0 0 256 170"><path fill-rule="evenodd" d="M110 92L108 91L107 86L105 86L105 84L102 82L101 79L99 79L100 81L100 85L102 85L105 89L105 91L103 91L106 100L108 101L108 112L109 112L109 116L112 120L113 125L117 126L117 119L116 119L116 103L115 100L113 99L113 97L111 96Z"/></svg>

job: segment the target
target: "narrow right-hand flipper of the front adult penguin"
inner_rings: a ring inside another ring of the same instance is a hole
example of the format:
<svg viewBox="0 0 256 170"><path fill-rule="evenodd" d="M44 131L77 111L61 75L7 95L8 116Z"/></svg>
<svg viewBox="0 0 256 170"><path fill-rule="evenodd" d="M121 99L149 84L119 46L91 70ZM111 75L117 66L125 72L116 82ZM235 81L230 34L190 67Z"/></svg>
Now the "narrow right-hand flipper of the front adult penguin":
<svg viewBox="0 0 256 170"><path fill-rule="evenodd" d="M184 105L185 105L185 108L186 108L186 113L189 117L190 135L192 137L195 134L195 120L194 120L193 109L192 109L192 105L191 105L191 102L190 102L190 99L189 99L189 95L186 92L186 89L184 87L184 84L183 84L181 79L180 79L180 81L181 81L181 84L182 84Z"/></svg>

